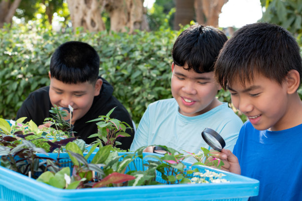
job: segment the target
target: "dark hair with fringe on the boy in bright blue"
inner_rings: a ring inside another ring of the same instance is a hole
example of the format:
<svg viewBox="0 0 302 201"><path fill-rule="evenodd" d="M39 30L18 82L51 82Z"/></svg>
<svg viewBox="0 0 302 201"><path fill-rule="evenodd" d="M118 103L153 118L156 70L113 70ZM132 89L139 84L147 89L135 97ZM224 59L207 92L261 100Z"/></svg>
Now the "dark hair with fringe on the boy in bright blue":
<svg viewBox="0 0 302 201"><path fill-rule="evenodd" d="M242 86L251 83L253 73L274 80L280 85L288 71L295 69L302 76L300 47L286 29L268 23L245 25L228 39L216 61L216 81L227 89L239 78Z"/></svg>

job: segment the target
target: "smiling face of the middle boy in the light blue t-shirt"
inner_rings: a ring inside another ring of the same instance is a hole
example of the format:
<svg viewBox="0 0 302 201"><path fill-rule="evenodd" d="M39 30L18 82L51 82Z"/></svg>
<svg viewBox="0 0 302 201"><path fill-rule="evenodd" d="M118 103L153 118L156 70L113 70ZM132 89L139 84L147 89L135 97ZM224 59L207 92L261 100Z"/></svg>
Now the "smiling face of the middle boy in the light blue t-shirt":
<svg viewBox="0 0 302 201"><path fill-rule="evenodd" d="M197 73L172 64L171 91L181 114L197 116L220 105L215 98L220 89L214 81L214 72Z"/></svg>

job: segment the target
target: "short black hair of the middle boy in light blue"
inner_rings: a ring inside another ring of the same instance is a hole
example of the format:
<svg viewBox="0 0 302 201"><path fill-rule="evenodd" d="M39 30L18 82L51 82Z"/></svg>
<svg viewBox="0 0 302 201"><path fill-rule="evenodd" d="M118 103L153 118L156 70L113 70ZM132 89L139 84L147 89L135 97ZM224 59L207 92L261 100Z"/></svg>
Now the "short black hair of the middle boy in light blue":
<svg viewBox="0 0 302 201"><path fill-rule="evenodd" d="M210 26L193 25L176 39L172 57L175 65L197 73L211 72L220 49L227 41L225 33Z"/></svg>

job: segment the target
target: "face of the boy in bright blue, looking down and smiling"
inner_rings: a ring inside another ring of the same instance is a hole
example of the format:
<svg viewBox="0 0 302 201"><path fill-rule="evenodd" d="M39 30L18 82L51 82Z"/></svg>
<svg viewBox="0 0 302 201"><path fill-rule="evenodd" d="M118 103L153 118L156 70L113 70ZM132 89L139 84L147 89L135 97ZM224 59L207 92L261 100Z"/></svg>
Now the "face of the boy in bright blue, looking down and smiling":
<svg viewBox="0 0 302 201"><path fill-rule="evenodd" d="M255 129L280 131L286 128L286 119L290 118L286 117L289 99L285 83L280 85L256 73L245 87L235 79L228 90L233 105L248 117Z"/></svg>

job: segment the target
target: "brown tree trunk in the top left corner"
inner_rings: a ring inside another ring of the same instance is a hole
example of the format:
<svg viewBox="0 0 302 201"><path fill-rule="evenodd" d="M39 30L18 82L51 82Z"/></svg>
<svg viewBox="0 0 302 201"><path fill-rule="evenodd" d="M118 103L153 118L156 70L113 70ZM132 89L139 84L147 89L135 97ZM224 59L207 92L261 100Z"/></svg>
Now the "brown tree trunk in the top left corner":
<svg viewBox="0 0 302 201"><path fill-rule="evenodd" d="M11 23L16 9L18 8L21 0L1 0L0 1L0 28L4 23Z"/></svg>

